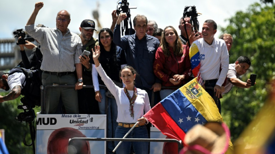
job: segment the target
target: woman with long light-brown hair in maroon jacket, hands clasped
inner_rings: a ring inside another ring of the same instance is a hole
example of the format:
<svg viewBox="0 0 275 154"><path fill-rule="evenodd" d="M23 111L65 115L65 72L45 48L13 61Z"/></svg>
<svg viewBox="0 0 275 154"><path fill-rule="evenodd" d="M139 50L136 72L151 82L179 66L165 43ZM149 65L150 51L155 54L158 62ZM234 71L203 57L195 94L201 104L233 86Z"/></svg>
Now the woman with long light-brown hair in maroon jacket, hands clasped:
<svg viewBox="0 0 275 154"><path fill-rule="evenodd" d="M177 31L172 26L167 26L162 32L162 43L157 49L154 62L154 73L162 80L162 86L171 87L160 91L164 99L177 88L187 83L191 72L189 47L181 44Z"/></svg>

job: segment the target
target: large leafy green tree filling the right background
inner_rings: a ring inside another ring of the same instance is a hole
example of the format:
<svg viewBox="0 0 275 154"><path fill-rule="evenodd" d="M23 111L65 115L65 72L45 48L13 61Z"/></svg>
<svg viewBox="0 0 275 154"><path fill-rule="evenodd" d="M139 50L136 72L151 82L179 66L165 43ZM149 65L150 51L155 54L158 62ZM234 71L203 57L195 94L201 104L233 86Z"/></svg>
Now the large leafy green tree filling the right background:
<svg viewBox="0 0 275 154"><path fill-rule="evenodd" d="M236 12L229 18L230 24L221 28L233 36L230 63L241 56L251 60L250 70L241 80L246 81L250 73L257 74L256 85L250 89L232 88L225 94L222 112L229 125L232 139L236 139L267 99L266 86L275 79L275 5L254 3L245 12ZM236 92L238 91L238 92Z"/></svg>

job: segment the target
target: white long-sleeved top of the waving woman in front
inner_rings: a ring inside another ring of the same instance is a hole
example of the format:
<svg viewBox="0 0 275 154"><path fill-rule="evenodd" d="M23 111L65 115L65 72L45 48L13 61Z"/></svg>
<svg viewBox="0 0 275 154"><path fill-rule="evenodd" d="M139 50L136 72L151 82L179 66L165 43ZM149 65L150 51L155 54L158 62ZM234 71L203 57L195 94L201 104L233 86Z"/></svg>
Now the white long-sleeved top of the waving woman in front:
<svg viewBox="0 0 275 154"><path fill-rule="evenodd" d="M133 107L134 118L131 117L129 110L130 102L124 92L124 88L119 88L118 86L116 86L113 81L106 75L101 65L96 67L96 70L98 71L98 74L100 75L104 84L107 86L111 94L113 94L116 99L116 103L118 105L118 118L116 121L118 123L136 123L138 121L138 118L141 118L144 115L144 112L146 113L151 109L147 92L145 90L137 88L138 96L135 100L135 104ZM133 96L133 90L128 90L128 92L130 96Z"/></svg>

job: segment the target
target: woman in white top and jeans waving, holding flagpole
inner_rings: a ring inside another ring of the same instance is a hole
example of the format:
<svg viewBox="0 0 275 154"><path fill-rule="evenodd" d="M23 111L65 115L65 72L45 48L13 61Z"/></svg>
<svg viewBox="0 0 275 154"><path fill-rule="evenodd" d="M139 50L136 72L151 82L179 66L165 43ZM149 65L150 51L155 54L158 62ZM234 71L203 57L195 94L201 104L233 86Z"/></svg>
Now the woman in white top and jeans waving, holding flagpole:
<svg viewBox="0 0 275 154"><path fill-rule="evenodd" d="M95 62L96 70L102 81L104 81L104 84L115 97L118 106L118 127L116 128L115 137L123 138L138 121L138 125L133 128L126 138L148 138L148 132L145 126L148 120L143 117L143 114L144 112L148 112L151 107L147 92L136 88L134 85L137 74L135 69L131 66L124 66L120 70L120 79L125 85L124 88L120 88L114 84L112 79L105 73L101 66L102 63L98 60L100 56L100 49L95 49L95 52L93 52L93 61ZM118 141L115 143L117 145ZM129 154L131 144L133 144L135 154L148 153L148 142L122 142L122 144L118 146L117 153Z"/></svg>

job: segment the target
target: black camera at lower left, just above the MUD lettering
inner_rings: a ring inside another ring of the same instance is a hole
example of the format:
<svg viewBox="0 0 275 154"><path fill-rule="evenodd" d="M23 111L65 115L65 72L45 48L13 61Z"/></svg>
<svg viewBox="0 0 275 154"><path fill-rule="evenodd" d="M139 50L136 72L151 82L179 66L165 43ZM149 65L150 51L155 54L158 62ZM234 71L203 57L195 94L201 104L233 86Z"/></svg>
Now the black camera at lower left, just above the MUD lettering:
<svg viewBox="0 0 275 154"><path fill-rule="evenodd" d="M24 112L19 113L14 119L18 122L33 121L35 118L34 110L29 105L18 105L17 109L22 109ZM27 111L28 110L28 111Z"/></svg>

